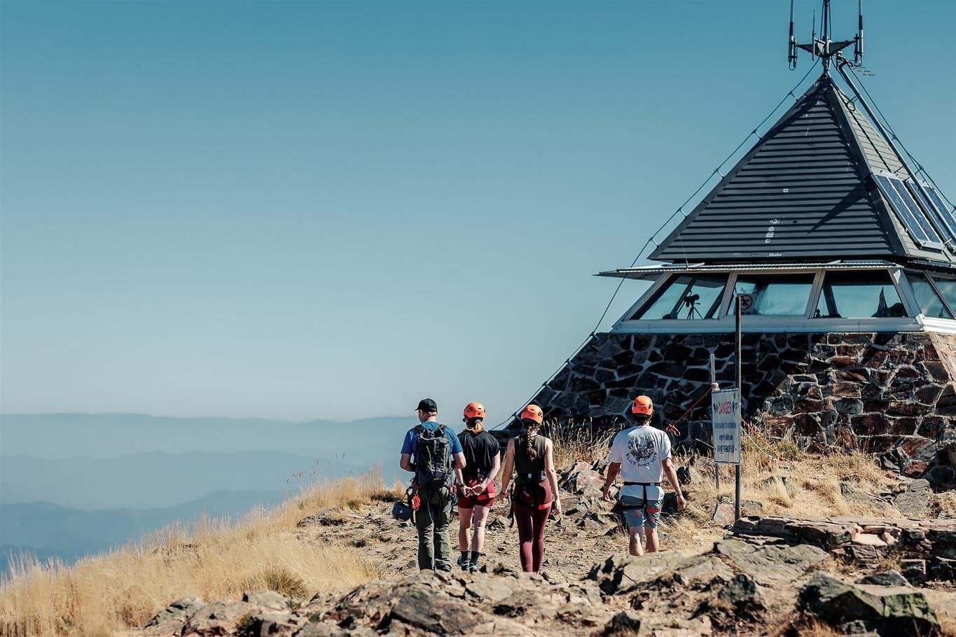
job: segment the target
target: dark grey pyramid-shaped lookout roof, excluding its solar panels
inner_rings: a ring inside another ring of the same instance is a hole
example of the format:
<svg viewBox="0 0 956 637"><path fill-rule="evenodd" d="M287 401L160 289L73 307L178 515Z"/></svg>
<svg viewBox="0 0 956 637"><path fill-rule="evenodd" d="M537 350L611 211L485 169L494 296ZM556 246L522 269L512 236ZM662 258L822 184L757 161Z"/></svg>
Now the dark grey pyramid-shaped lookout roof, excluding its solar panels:
<svg viewBox="0 0 956 637"><path fill-rule="evenodd" d="M913 240L874 172L909 177L829 75L781 117L650 259L672 263L880 258L952 263Z"/></svg>

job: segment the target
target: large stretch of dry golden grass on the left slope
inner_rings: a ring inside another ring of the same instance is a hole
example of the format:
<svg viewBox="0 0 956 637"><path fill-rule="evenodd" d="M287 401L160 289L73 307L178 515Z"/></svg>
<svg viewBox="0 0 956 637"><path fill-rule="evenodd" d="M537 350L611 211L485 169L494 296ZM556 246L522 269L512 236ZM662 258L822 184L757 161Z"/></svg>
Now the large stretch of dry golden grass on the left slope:
<svg viewBox="0 0 956 637"><path fill-rule="evenodd" d="M324 482L235 523L172 526L146 540L64 566L21 561L0 586L0 634L107 635L141 626L172 600L237 597L272 588L308 598L379 576L360 552L295 537L298 520L328 507L387 499L380 470Z"/></svg>

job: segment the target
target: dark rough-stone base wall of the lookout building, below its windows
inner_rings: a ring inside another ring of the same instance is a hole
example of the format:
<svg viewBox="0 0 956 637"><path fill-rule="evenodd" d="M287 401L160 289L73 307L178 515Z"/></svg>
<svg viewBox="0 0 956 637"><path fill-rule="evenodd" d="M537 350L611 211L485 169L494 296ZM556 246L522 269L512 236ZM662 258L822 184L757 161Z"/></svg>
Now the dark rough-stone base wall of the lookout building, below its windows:
<svg viewBox="0 0 956 637"><path fill-rule="evenodd" d="M710 353L728 387L733 350L732 333L599 333L534 400L548 418L600 426L619 420L639 393L654 399L664 422L703 397L685 427L709 418ZM862 448L910 475L922 475L956 441L956 336L745 333L742 355L744 418L768 435ZM939 471L948 474L937 481L953 480L948 466Z"/></svg>

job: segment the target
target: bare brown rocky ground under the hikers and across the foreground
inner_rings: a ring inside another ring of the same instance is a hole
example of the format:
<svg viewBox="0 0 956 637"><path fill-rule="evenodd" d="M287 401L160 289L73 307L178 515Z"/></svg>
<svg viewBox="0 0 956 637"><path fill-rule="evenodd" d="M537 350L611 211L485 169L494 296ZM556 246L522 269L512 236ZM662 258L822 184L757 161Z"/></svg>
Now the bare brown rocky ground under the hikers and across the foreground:
<svg viewBox="0 0 956 637"><path fill-rule="evenodd" d="M718 539L706 550L675 550L676 538L665 538L667 550L634 558L617 516L597 499L600 483L589 465L563 473L565 515L550 523L540 575L519 572L517 534L499 505L488 558L474 574L419 573L415 530L391 518L388 502L330 509L299 523L300 541L359 547L381 580L309 601L274 591L187 598L136 634L827 634L822 625L837 634L956 635L956 520L753 515L728 529L711 524Z"/></svg>

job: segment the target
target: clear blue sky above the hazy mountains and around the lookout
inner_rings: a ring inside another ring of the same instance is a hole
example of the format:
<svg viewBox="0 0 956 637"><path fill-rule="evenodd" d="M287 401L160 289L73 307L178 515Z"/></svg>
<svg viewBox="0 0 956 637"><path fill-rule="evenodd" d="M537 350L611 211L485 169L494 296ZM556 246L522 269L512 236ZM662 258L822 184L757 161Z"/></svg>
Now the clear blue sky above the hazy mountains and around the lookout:
<svg viewBox="0 0 956 637"><path fill-rule="evenodd" d="M865 4L866 86L952 199L956 3ZM505 417L810 64L786 0L0 12L7 413Z"/></svg>

